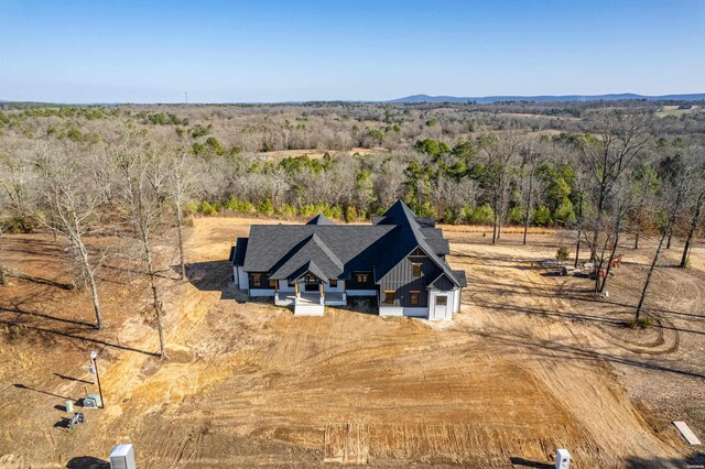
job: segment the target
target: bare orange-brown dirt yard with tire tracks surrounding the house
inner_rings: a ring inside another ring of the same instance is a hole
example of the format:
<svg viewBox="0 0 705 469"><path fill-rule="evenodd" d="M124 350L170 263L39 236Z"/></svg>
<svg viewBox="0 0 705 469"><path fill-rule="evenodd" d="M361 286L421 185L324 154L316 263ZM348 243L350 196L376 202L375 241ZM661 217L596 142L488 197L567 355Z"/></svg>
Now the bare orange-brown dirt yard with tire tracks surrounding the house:
<svg viewBox="0 0 705 469"><path fill-rule="evenodd" d="M141 468L549 468L556 447L576 468L705 463L671 424L705 439L702 244L686 271L669 266L681 243L668 251L647 330L626 323L652 242L633 251L625 241L609 298L595 301L589 280L538 263L570 242L564 234L535 233L523 247L507 233L492 247L467 227L444 227L448 261L468 277L454 321L335 308L293 317L228 286L231 242L251 222L279 221L196 219L187 282L164 237L165 361L153 355L147 283L134 272L101 271L100 331L84 292L18 279L0 287L0 468L105 467L123 441ZM51 237L0 242L11 268L70 279ZM90 350L106 408L83 410L86 423L68 432L66 400L97 392Z"/></svg>

